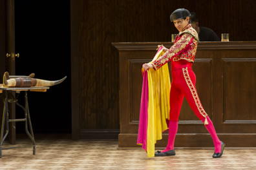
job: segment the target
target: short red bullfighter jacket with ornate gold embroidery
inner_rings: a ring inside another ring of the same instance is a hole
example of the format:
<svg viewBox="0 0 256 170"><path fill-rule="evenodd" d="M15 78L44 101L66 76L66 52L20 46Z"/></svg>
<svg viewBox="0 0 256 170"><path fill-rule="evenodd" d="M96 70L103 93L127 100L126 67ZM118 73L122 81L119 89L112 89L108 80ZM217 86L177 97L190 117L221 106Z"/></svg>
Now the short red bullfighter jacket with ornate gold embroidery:
<svg viewBox="0 0 256 170"><path fill-rule="evenodd" d="M164 55L152 62L155 70L164 66L169 61L179 61L184 59L189 62L194 62L195 53L197 52L198 34L197 31L188 24L184 31L180 32L175 39L175 42Z"/></svg>

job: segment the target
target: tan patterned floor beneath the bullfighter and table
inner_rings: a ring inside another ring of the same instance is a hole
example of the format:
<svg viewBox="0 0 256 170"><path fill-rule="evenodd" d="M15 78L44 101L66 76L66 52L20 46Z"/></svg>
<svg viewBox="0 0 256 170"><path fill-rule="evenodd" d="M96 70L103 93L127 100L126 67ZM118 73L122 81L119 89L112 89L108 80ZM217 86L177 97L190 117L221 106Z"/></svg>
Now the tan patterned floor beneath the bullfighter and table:
<svg viewBox="0 0 256 170"><path fill-rule="evenodd" d="M19 140L18 146L30 144ZM7 145L5 145L7 146ZM176 149L176 156L147 158L142 149L118 149L117 141L38 140L32 147L3 150L0 169L256 169L256 149Z"/></svg>

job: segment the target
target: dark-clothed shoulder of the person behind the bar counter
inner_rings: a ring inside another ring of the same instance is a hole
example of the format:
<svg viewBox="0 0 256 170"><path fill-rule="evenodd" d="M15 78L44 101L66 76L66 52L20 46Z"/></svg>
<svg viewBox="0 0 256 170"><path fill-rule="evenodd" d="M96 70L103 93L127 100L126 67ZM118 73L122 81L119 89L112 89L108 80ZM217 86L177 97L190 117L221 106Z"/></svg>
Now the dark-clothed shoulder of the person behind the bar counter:
<svg viewBox="0 0 256 170"><path fill-rule="evenodd" d="M200 26L199 28L199 41L220 41L218 35L215 32L213 32L211 28L207 28L204 26Z"/></svg>

